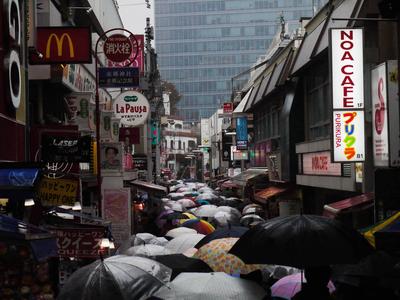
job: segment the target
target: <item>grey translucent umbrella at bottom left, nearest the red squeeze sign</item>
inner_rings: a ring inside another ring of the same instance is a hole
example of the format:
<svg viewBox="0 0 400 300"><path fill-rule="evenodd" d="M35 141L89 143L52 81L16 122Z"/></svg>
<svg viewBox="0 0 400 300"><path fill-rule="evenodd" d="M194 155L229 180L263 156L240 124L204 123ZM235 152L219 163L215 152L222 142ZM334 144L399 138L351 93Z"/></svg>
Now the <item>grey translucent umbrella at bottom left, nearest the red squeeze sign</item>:
<svg viewBox="0 0 400 300"><path fill-rule="evenodd" d="M170 281L171 269L151 259L117 255L78 269L59 300L147 299Z"/></svg>

